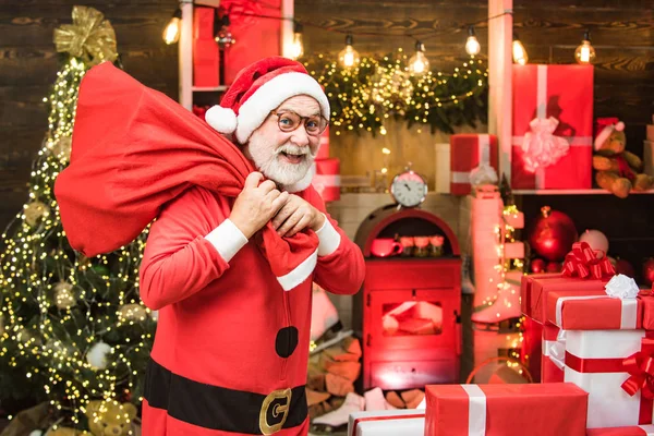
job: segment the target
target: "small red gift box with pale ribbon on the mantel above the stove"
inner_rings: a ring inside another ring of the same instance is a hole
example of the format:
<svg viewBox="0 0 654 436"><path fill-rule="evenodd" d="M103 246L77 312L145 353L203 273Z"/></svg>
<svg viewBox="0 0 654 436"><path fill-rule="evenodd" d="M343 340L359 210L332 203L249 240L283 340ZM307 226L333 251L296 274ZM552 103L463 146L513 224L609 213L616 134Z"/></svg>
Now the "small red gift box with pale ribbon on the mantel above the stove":
<svg viewBox="0 0 654 436"><path fill-rule="evenodd" d="M450 193L470 194L470 173L481 164L497 171L497 136L460 134L450 136Z"/></svg>

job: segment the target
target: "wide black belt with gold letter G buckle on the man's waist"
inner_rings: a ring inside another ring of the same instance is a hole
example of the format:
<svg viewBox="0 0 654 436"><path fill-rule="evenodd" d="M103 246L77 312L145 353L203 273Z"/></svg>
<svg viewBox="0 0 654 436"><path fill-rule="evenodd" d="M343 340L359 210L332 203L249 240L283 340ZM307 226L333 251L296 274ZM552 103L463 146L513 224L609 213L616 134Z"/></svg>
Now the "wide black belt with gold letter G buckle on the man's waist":
<svg viewBox="0 0 654 436"><path fill-rule="evenodd" d="M204 428L269 435L301 425L307 415L304 386L269 395L206 385L171 373L150 359L144 397L177 420Z"/></svg>

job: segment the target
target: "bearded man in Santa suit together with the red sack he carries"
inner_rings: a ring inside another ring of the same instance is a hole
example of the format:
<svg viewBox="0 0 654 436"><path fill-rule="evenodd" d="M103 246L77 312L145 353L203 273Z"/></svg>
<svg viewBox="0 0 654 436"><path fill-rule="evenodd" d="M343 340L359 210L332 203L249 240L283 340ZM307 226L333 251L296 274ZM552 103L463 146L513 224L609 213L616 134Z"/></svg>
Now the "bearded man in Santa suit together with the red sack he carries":
<svg viewBox="0 0 654 436"><path fill-rule="evenodd" d="M241 71L208 125L110 64L85 76L56 185L69 241L108 252L157 218L140 271L159 311L144 436L307 433L312 281L353 294L365 270L311 185L329 113L277 57Z"/></svg>

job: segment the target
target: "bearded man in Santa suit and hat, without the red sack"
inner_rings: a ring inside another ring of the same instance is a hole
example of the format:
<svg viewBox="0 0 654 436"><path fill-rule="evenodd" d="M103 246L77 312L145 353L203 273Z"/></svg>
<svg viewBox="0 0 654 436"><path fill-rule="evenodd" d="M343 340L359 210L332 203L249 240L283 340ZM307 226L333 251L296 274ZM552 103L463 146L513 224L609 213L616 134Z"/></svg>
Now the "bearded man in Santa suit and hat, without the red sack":
<svg viewBox="0 0 654 436"><path fill-rule="evenodd" d="M318 83L283 58L241 71L207 111L258 172L235 198L190 189L150 229L141 296L159 324L144 435L307 433L312 280L352 294L364 277L361 251L311 186L328 119ZM317 234L317 256L304 261L311 274L275 277L254 242L268 222L282 238Z"/></svg>

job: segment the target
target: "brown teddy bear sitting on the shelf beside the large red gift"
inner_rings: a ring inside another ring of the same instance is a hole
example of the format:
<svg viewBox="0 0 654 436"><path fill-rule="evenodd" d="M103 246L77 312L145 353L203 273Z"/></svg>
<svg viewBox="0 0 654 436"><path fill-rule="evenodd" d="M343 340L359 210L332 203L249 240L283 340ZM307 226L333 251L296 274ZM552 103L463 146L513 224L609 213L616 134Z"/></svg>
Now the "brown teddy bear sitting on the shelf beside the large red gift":
<svg viewBox="0 0 654 436"><path fill-rule="evenodd" d="M597 185L620 198L631 191L647 191L654 185L654 178L640 172L642 160L627 152L626 145L625 123L606 125L595 138L596 154L593 156Z"/></svg>

